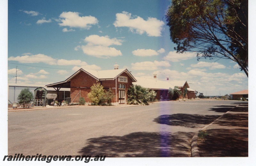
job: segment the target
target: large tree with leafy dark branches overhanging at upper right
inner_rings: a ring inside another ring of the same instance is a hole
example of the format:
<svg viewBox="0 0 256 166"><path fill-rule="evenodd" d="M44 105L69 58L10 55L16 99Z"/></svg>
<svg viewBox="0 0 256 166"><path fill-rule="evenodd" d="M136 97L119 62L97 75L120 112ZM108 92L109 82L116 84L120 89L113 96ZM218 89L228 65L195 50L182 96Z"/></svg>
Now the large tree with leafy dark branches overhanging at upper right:
<svg viewBox="0 0 256 166"><path fill-rule="evenodd" d="M248 0L172 0L165 18L177 52L230 59L248 77Z"/></svg>

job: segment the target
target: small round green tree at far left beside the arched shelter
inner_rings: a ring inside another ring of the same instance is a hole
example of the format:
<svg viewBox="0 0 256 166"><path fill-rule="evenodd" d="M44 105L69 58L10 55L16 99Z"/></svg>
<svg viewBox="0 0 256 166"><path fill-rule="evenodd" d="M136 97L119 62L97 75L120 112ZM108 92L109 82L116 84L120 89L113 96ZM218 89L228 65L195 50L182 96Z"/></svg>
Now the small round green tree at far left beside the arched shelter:
<svg viewBox="0 0 256 166"><path fill-rule="evenodd" d="M28 104L33 101L34 95L27 87L20 91L17 99L19 104L23 104L23 108L27 108Z"/></svg>

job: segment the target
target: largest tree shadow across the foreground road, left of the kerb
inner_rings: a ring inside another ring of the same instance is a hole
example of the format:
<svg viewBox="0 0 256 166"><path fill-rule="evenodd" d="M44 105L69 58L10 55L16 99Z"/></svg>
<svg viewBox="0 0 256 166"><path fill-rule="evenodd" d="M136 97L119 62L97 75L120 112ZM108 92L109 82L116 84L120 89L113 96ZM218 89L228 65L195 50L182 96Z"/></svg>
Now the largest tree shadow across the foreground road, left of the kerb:
<svg viewBox="0 0 256 166"><path fill-rule="evenodd" d="M188 157L193 132L133 132L88 139L80 155L106 157Z"/></svg>

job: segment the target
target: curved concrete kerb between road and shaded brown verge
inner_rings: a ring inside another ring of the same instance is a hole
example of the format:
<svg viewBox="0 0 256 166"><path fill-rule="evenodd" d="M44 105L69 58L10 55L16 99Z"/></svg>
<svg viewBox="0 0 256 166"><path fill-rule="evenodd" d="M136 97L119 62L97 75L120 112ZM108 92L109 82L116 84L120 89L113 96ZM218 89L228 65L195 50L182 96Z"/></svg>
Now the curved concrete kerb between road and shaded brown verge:
<svg viewBox="0 0 256 166"><path fill-rule="evenodd" d="M239 105L237 105L237 106L239 106ZM229 111L225 112L223 115L221 115L220 117L215 119L212 123L204 126L202 129L200 129L200 130L198 130L197 132L194 133L194 135L192 137L192 140L191 140L191 155L192 155L192 157L200 157L198 146L197 146L198 133L200 131L206 129L208 126L212 125L215 121L219 120L221 117L223 117L225 114L229 113L231 110L235 109L236 107L234 107L234 108L230 109Z"/></svg>

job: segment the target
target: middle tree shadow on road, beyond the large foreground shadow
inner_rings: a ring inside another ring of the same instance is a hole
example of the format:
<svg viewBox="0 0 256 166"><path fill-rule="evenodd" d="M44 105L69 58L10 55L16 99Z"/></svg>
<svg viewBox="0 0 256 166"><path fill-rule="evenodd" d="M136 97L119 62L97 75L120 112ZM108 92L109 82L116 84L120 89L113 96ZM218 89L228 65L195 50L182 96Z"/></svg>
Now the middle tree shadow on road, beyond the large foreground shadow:
<svg viewBox="0 0 256 166"><path fill-rule="evenodd" d="M189 128L196 128L198 124L210 124L219 115L196 115L196 114L173 114L161 115L153 121L158 124L167 124L171 126L182 126Z"/></svg>

